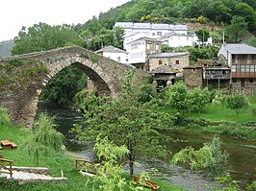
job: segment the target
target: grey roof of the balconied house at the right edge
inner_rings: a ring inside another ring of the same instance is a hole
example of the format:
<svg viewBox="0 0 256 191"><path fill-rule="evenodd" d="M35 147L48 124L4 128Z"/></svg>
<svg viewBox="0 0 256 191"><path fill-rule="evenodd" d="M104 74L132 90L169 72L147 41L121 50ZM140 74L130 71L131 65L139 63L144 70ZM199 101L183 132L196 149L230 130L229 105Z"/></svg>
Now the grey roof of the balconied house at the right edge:
<svg viewBox="0 0 256 191"><path fill-rule="evenodd" d="M256 54L256 48L246 44L223 44L222 46L231 54Z"/></svg>

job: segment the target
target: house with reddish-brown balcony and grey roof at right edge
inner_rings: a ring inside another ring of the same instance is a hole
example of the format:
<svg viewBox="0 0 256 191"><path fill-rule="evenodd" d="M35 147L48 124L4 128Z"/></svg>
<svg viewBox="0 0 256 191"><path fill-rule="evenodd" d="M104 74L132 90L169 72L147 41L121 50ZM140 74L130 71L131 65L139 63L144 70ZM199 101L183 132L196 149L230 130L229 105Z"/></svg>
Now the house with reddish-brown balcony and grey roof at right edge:
<svg viewBox="0 0 256 191"><path fill-rule="evenodd" d="M255 95L256 48L245 44L223 43L218 58L231 68L231 92Z"/></svg>

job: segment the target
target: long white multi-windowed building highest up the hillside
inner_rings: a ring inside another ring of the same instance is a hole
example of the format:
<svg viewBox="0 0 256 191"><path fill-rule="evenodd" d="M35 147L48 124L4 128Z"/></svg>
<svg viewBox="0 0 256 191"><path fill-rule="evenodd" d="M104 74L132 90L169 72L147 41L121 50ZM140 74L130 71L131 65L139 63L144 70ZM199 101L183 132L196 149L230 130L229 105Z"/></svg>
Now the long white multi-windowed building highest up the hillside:
<svg viewBox="0 0 256 191"><path fill-rule="evenodd" d="M170 32L184 35L188 34L188 27L183 24L115 22L115 27L120 27L124 30L124 37L139 33L149 37L160 37Z"/></svg>

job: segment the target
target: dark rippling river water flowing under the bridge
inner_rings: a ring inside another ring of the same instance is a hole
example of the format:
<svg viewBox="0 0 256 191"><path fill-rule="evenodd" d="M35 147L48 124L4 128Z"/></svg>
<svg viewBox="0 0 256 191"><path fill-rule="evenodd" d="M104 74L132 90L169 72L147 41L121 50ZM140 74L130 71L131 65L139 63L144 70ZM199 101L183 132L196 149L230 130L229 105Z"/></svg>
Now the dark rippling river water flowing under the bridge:
<svg viewBox="0 0 256 191"><path fill-rule="evenodd" d="M84 120L81 113L75 111L72 108L60 107L53 103L39 102L38 113L47 112L51 116L55 116L57 130L64 133L66 138L66 149L72 154L78 157L91 160L93 153L91 147L87 145L81 145L76 140L75 135L70 131L71 127L75 123L79 123ZM192 146L196 149L203 146L203 143L211 142L213 135L206 134L197 131L165 131L172 138L178 138L181 140L188 140L186 142L171 143L169 145L170 151L175 154L186 146ZM228 161L228 173L232 179L238 180L242 189L252 180L256 179L256 141L246 141L242 139L234 139L230 137L220 137L222 143L222 149L229 154ZM140 167L135 168L135 172L141 172L146 170L150 173L151 168L159 170L156 177L166 179L174 185L179 185L187 188L188 190L206 190L205 185L217 186L214 179L208 176L207 172L200 171L198 175L190 170L190 168L179 165L170 165L170 157L159 159L145 159L139 158L141 163ZM125 167L128 169L128 167ZM197 184L198 179L198 184Z"/></svg>

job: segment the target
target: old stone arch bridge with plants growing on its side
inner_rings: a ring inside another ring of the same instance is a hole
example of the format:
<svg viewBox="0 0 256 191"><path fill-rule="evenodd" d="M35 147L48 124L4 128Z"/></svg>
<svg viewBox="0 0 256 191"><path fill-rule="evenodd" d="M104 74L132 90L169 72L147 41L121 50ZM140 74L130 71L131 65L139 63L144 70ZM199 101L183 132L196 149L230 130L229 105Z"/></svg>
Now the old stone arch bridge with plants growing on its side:
<svg viewBox="0 0 256 191"><path fill-rule="evenodd" d="M0 107L7 107L15 124L31 126L38 109L38 97L47 82L65 67L84 69L99 94L117 98L121 82L132 66L72 46L0 60ZM137 82L147 74L135 73Z"/></svg>

